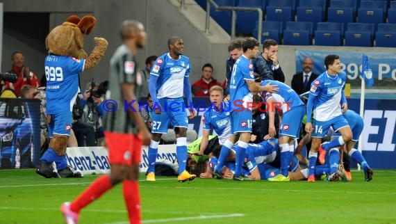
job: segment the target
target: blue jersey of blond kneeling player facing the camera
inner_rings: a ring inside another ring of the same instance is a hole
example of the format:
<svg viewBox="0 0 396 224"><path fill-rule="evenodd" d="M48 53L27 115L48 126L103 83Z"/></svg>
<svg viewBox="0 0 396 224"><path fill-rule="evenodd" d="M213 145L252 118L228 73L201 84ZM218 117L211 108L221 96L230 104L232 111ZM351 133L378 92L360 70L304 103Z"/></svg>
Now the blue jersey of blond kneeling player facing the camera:
<svg viewBox="0 0 396 224"><path fill-rule="evenodd" d="M222 145L231 134L230 112L227 108L230 104L225 104L223 102L222 105L222 111L217 111L217 109L212 106L209 107L202 118L202 123L204 125L203 129L208 131L215 130L216 134L219 136L220 145Z"/></svg>

